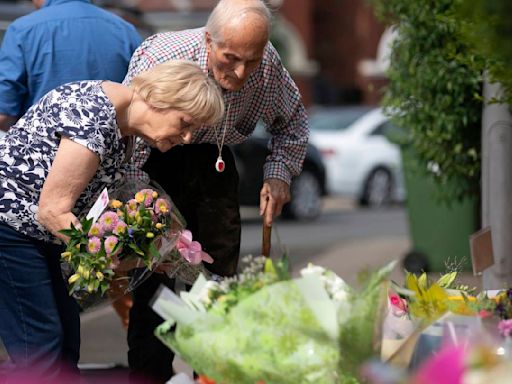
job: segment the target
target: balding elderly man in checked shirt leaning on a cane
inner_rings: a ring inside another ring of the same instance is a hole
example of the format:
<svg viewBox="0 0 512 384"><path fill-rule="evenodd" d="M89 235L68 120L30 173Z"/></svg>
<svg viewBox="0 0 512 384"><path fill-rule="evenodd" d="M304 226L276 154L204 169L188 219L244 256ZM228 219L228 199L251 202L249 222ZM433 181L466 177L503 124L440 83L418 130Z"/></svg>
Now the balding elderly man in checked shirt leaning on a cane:
<svg viewBox="0 0 512 384"><path fill-rule="evenodd" d="M226 144L246 140L258 120L272 134L264 166L260 214L271 225L290 199L291 178L302 168L308 125L299 91L269 43L270 11L260 0L220 0L205 28L148 38L134 53L125 84L157 63L187 59L198 63L223 89L224 120L194 135L193 143L168 154L139 147L135 164L170 194L188 228L222 276L236 272L240 252L238 173ZM139 177L143 177L142 172ZM154 336L162 320L148 302L165 277L154 274L133 293L128 360L133 372L163 382L172 374L171 354ZM170 285L168 282L166 283ZM215 353L215 351L212 351Z"/></svg>

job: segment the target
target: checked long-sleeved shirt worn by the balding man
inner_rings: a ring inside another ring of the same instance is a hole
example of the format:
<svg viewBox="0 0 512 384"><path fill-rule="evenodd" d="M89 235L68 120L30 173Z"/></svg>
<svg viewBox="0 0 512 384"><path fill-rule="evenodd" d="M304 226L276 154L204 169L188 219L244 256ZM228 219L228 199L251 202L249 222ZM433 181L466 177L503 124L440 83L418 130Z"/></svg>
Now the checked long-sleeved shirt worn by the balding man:
<svg viewBox="0 0 512 384"><path fill-rule="evenodd" d="M156 64L176 59L194 61L207 73L204 35L204 28L198 28L149 37L133 54L123 84L129 85L134 76ZM224 101L226 110L229 105L229 113L216 126L219 142L226 129L225 144L242 143L261 119L272 135L264 178L277 178L290 184L291 177L302 169L309 128L299 90L272 44L267 44L259 68L239 91L224 91ZM201 127L195 132L192 143L217 144L215 129L212 126ZM150 148L138 139L128 177L148 181L141 168L149 153Z"/></svg>

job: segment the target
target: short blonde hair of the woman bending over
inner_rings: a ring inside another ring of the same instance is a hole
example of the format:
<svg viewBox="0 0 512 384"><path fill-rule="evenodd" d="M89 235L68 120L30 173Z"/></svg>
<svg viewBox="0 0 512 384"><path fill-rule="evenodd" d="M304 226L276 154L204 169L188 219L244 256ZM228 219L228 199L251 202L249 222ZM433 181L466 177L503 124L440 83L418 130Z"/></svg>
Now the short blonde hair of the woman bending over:
<svg viewBox="0 0 512 384"><path fill-rule="evenodd" d="M131 86L151 107L177 109L202 124L213 125L224 115L219 86L191 61L157 64L134 77Z"/></svg>

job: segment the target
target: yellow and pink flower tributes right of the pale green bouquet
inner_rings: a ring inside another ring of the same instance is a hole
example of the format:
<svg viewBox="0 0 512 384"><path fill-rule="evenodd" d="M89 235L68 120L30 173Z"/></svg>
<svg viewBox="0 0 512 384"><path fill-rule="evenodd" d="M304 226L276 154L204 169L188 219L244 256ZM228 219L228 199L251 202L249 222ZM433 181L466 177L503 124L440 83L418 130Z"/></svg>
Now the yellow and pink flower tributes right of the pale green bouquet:
<svg viewBox="0 0 512 384"><path fill-rule="evenodd" d="M404 287L392 285L383 347L400 343L382 359L387 364L365 365L367 382L510 382L512 289L478 293L457 278L456 271L437 280L406 273Z"/></svg>

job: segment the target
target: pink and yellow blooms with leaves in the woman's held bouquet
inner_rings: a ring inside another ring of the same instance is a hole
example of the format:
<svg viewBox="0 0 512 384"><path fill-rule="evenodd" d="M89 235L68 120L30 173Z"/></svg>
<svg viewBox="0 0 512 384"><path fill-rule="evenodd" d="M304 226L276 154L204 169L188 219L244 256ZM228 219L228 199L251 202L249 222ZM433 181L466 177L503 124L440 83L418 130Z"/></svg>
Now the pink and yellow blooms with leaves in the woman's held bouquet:
<svg viewBox="0 0 512 384"><path fill-rule="evenodd" d="M140 190L126 203L111 200L97 222L83 219L80 226L61 231L69 237L62 259L74 271L68 278L70 293L104 294L116 271L153 270L162 261L162 241L175 242L179 229L170 202L152 189Z"/></svg>

